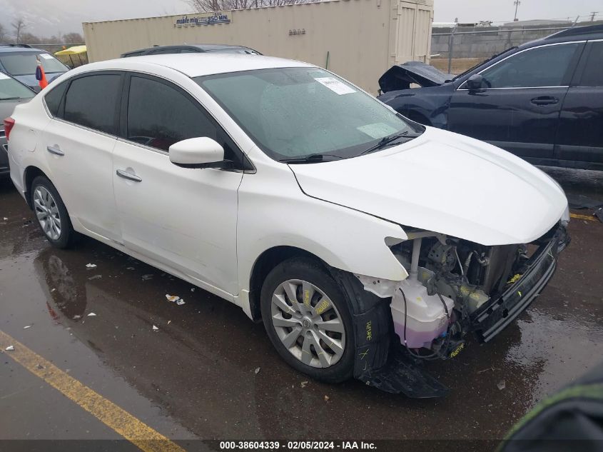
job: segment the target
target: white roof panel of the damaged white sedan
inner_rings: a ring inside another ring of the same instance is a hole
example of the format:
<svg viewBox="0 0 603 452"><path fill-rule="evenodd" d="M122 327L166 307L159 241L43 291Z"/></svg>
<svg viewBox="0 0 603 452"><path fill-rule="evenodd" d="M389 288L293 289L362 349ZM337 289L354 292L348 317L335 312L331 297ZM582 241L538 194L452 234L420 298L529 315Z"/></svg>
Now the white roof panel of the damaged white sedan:
<svg viewBox="0 0 603 452"><path fill-rule="evenodd" d="M226 74L228 72L252 71L255 69L271 69L282 67L313 67L312 64L303 63L274 56L247 55L247 54L162 54L132 56L98 63L86 64L69 71L69 74L83 73L93 70L141 70L142 66L163 66L181 72L189 77L198 77L212 74Z"/></svg>

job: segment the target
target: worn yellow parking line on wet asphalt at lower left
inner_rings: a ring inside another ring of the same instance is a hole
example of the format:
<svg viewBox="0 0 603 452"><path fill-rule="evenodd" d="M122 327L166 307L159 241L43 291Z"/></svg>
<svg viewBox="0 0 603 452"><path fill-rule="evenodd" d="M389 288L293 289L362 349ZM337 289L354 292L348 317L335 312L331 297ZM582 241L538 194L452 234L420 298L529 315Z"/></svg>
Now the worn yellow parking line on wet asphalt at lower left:
<svg viewBox="0 0 603 452"><path fill-rule="evenodd" d="M5 351L8 346L14 346L14 351ZM53 363L34 353L4 331L0 331L0 347L5 355L10 356L28 371L39 376L143 451L184 451L178 444L173 443L166 436L139 421L115 403L108 401L96 391L61 371Z"/></svg>

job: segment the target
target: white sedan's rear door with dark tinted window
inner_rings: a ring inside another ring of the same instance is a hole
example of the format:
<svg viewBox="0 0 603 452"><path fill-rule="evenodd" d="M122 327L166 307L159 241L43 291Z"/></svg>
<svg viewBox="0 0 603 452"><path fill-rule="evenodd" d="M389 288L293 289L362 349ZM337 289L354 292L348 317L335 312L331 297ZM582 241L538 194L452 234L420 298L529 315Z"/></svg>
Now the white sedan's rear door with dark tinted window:
<svg viewBox="0 0 603 452"><path fill-rule="evenodd" d="M120 237L111 173L122 83L123 74L98 71L52 89L44 101L54 117L40 150L72 219L112 240Z"/></svg>

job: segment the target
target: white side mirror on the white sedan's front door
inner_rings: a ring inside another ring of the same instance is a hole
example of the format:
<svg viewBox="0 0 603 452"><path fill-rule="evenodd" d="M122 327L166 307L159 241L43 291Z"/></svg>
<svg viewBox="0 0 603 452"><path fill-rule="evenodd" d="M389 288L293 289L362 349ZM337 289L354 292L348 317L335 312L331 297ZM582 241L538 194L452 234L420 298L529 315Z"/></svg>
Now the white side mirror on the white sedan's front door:
<svg viewBox="0 0 603 452"><path fill-rule="evenodd" d="M207 136L178 141L169 148L170 161L183 168L226 168L224 149Z"/></svg>

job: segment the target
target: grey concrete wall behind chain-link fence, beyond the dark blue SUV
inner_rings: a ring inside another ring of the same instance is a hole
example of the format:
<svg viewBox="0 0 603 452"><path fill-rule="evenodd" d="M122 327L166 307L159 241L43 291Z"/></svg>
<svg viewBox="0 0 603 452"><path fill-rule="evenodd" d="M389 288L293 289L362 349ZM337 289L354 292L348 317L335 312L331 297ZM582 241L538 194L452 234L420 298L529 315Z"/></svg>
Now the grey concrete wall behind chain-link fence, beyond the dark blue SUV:
<svg viewBox="0 0 603 452"><path fill-rule="evenodd" d="M597 23L600 22L586 22L577 25L592 25ZM526 42L534 41L534 39L542 39L570 26L572 26L572 22L539 24L522 27L521 29L517 27L458 27L455 31L452 58L487 58L509 47L520 46ZM480 34L462 34L462 32L466 31L478 31ZM434 28L432 33L432 54L440 54L440 57L448 58L448 41L450 37L447 34L450 34L450 29ZM442 33L446 35L440 35Z"/></svg>

